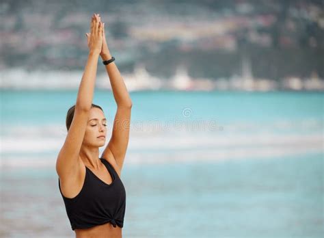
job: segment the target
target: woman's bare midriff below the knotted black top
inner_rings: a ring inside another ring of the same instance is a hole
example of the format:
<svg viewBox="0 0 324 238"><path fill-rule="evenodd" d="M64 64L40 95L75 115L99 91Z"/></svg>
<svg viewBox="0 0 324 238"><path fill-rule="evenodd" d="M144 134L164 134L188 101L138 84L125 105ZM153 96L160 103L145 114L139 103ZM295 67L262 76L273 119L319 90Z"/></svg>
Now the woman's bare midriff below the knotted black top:
<svg viewBox="0 0 324 238"><path fill-rule="evenodd" d="M122 238L122 228L110 222L86 229L75 229L76 238Z"/></svg>

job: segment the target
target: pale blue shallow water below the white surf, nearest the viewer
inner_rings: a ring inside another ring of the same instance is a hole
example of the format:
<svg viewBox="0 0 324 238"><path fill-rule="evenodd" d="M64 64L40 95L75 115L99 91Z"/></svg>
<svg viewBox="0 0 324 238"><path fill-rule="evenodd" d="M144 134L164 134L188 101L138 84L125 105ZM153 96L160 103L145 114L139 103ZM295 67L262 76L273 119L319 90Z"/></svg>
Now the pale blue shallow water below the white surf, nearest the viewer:
<svg viewBox="0 0 324 238"><path fill-rule="evenodd" d="M7 170L2 181L2 220L12 237L73 237L53 170ZM124 237L322 237L324 232L323 155L125 166L122 181Z"/></svg>

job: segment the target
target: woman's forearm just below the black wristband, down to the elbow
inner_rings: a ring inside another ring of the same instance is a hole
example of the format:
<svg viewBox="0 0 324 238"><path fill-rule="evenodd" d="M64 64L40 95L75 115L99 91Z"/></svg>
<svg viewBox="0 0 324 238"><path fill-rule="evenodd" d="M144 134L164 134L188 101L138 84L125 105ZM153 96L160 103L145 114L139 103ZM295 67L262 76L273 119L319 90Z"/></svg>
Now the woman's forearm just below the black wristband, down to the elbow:
<svg viewBox="0 0 324 238"><path fill-rule="evenodd" d="M111 59L111 54L106 53L101 55L103 60ZM111 83L111 90L113 92L113 97L115 98L116 104L118 106L131 107L132 101L127 91L126 85L120 71L118 70L115 62L111 62L105 66L107 75Z"/></svg>

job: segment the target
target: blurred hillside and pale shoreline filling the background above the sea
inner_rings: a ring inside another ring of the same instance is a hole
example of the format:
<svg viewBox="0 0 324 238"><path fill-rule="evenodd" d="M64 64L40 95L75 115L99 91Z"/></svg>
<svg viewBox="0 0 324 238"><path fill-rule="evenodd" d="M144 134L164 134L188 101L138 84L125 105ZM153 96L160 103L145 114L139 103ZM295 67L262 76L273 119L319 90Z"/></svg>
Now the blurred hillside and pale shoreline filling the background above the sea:
<svg viewBox="0 0 324 238"><path fill-rule="evenodd" d="M131 91L324 90L319 1L99 0L96 6L3 3L0 88L76 88L87 59L85 32L100 9L111 55ZM105 73L98 66L102 88L109 87Z"/></svg>

